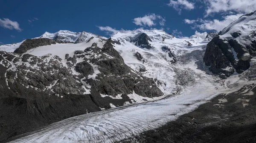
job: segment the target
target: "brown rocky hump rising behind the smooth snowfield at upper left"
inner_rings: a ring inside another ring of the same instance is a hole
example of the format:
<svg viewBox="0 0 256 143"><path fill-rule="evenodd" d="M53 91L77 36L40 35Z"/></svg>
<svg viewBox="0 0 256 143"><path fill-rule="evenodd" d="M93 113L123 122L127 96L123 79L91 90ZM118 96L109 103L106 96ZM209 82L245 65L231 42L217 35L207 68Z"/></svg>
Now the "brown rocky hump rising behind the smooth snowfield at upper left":
<svg viewBox="0 0 256 143"><path fill-rule="evenodd" d="M47 38L40 38L40 39L26 39L19 48L17 48L14 53L26 53L26 51L39 47L39 46L46 46L56 44L55 41Z"/></svg>

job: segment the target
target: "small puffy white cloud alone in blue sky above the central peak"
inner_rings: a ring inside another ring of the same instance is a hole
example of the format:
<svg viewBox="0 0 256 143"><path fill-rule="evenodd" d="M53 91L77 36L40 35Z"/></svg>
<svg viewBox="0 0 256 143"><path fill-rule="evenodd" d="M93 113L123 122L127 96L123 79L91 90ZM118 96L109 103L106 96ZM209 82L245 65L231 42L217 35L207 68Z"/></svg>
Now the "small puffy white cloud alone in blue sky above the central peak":
<svg viewBox="0 0 256 143"><path fill-rule="evenodd" d="M145 15L144 17L134 18L133 22L136 25L152 27L152 26L156 25L156 22L159 22L159 24L161 26L164 26L166 20L165 20L165 18L161 17L160 15L149 14L149 15Z"/></svg>

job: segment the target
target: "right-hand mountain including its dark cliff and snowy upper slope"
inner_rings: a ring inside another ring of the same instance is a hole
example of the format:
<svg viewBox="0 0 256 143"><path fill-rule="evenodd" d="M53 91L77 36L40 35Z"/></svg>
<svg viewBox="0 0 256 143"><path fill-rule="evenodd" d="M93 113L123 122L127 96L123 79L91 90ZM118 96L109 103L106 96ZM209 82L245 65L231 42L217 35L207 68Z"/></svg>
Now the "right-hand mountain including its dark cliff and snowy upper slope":
<svg viewBox="0 0 256 143"><path fill-rule="evenodd" d="M204 62L222 78L247 70L256 57L255 31L256 11L241 16L208 43Z"/></svg>

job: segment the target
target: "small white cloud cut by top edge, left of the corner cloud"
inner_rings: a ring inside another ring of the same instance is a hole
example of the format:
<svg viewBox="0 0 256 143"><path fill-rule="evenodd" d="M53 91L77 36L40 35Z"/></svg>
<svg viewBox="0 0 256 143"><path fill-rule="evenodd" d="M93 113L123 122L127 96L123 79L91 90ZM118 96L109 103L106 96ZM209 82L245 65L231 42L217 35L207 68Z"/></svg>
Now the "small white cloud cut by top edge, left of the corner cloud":
<svg viewBox="0 0 256 143"><path fill-rule="evenodd" d="M170 0L170 2L167 5L172 6L179 12L179 14L181 13L182 9L192 10L195 8L195 3L191 3L187 0Z"/></svg>

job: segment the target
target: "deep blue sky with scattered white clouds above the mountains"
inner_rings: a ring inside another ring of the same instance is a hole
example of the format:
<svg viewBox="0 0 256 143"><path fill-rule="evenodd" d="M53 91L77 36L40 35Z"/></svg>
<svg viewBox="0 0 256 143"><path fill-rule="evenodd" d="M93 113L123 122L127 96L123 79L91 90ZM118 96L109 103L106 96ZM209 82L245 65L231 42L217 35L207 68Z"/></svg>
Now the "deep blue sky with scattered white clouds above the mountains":
<svg viewBox="0 0 256 143"><path fill-rule="evenodd" d="M2 44L59 30L110 36L163 28L177 37L204 37L256 10L256 0L1 0L0 5Z"/></svg>

